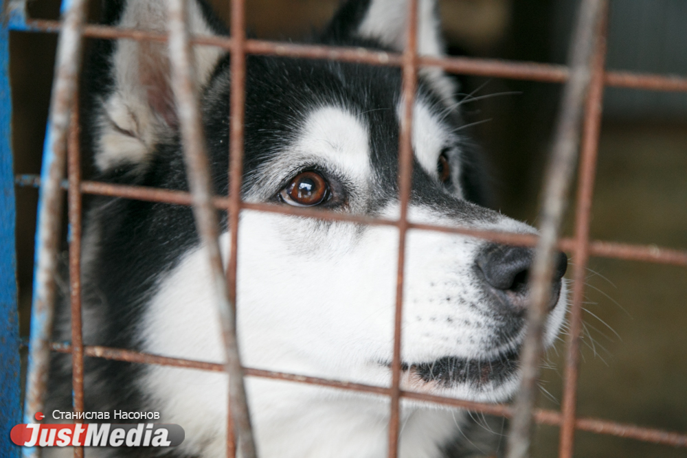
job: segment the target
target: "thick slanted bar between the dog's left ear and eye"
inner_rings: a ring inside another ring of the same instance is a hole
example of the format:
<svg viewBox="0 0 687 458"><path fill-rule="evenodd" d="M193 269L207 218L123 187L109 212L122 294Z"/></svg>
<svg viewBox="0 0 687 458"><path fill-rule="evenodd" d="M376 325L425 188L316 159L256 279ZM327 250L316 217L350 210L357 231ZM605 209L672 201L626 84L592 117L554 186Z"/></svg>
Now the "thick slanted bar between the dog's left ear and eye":
<svg viewBox="0 0 687 458"><path fill-rule="evenodd" d="M189 43L187 3L168 0L169 54L172 69L172 90L177 102L181 126L184 160L193 199L193 211L199 236L208 254L212 286L218 299L218 312L225 341L229 400L234 428L238 432L242 458L256 458L253 431L240 363L234 304L229 300L227 282L218 242L217 211L212 204L210 164L205 152L205 136L194 84L194 67Z"/></svg>

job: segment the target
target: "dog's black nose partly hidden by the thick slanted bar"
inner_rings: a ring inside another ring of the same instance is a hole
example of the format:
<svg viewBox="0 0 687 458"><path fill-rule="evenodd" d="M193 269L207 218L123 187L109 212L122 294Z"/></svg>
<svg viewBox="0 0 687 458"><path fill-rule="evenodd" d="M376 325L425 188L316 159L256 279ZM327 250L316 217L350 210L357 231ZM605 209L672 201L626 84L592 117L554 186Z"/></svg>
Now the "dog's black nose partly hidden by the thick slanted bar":
<svg viewBox="0 0 687 458"><path fill-rule="evenodd" d="M525 247L508 247L492 244L477 256L477 267L484 275L484 280L499 295L506 305L524 310L528 298L528 276L534 250ZM558 302L561 294L561 279L567 270L567 256L559 253L556 260L555 275L552 284L550 308Z"/></svg>

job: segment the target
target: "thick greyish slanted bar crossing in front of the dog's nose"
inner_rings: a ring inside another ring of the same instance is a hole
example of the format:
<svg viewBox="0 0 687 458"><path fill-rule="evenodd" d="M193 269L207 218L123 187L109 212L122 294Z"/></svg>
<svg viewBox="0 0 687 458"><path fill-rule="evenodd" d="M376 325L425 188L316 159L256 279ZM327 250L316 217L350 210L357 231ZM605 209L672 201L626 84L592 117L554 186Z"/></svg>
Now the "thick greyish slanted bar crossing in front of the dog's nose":
<svg viewBox="0 0 687 458"><path fill-rule="evenodd" d="M527 333L520 357L522 381L515 400L506 456L530 455L532 410L537 401L543 333L551 297L556 245L577 158L583 106L591 78L592 56L607 12L605 0L583 0L570 44L570 78L563 89L551 159L545 174L539 243L530 271Z"/></svg>

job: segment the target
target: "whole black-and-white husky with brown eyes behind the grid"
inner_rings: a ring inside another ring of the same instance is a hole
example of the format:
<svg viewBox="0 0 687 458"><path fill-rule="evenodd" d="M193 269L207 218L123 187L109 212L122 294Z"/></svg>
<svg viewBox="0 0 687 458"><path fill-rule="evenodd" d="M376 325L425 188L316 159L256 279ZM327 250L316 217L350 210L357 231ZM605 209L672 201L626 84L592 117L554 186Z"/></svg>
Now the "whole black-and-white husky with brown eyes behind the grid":
<svg viewBox="0 0 687 458"><path fill-rule="evenodd" d="M227 34L201 0L190 0L188 8L192 33ZM422 0L419 8L419 52L440 56L436 4ZM313 42L402 51L406 11L403 0L346 1ZM106 23L120 27L166 30L164 0L111 1L104 14ZM229 56L196 47L194 58L214 191L227 194ZM164 43L96 44L83 91L83 144L96 179L188 190L169 67ZM420 71L409 218L535 233L484 206L480 157L462 130L455 89L440 70ZM249 56L243 199L397 218L400 91L398 67ZM397 229L243 211L239 232L243 363L388 386ZM189 207L93 198L84 238L85 343L221 363L217 301L203 250ZM403 388L508 400L519 382L532 250L411 230L405 262ZM547 345L564 319L566 263L561 253ZM68 319L61 315L58 339L68 339ZM69 358L56 358L53 370L63 382L53 384L49 402L67 410ZM181 425L185 441L164 456L224 456L225 374L87 358L85 385L87 411L155 411L160 422ZM247 378L247 393L262 458L386 456L390 401L384 396L264 378ZM400 456L467 456L471 429L463 411L403 400ZM138 457L150 450L87 454Z"/></svg>

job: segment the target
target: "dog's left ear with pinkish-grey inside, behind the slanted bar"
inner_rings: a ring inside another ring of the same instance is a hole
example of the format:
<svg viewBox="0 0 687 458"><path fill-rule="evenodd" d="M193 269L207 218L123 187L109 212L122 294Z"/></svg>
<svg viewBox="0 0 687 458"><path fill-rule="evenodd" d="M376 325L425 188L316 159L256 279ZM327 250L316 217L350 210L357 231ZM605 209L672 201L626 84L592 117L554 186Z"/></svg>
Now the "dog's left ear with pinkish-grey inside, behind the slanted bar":
<svg viewBox="0 0 687 458"><path fill-rule="evenodd" d="M202 1L202 0L201 0ZM191 34L225 34L210 16L205 3L188 1ZM166 0L111 0L105 20L113 25L151 32L166 32ZM106 62L110 84L98 97L93 143L100 172L119 166L144 170L156 144L177 127L170 87L167 43L120 39L113 43ZM194 47L196 87L202 89L224 51ZM97 81L88 81L93 86ZM97 92L97 90L96 90Z"/></svg>

